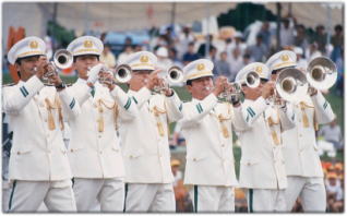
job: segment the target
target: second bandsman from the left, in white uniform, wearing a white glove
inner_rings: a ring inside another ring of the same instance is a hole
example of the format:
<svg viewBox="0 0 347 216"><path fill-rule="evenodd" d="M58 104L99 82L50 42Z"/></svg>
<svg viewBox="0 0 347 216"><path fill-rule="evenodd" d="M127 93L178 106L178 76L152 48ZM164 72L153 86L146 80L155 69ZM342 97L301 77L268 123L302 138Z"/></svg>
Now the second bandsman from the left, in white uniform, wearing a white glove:
<svg viewBox="0 0 347 216"><path fill-rule="evenodd" d="M82 36L68 46L79 80L68 88L81 106L77 117L65 116L71 140L69 159L74 177L77 212L122 212L124 167L118 123L137 113L132 99L115 85L113 75L99 63L103 43ZM100 83L99 81L103 81ZM106 82L109 81L109 82Z"/></svg>

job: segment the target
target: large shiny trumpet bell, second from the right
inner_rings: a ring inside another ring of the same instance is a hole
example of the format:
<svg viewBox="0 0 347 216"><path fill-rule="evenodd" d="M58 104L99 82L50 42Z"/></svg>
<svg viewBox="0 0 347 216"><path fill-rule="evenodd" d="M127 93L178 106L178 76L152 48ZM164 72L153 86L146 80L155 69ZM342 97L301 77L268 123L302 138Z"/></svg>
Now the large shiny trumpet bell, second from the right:
<svg viewBox="0 0 347 216"><path fill-rule="evenodd" d="M306 75L298 69L285 69L276 80L276 92L287 101L298 103L302 100L308 88Z"/></svg>

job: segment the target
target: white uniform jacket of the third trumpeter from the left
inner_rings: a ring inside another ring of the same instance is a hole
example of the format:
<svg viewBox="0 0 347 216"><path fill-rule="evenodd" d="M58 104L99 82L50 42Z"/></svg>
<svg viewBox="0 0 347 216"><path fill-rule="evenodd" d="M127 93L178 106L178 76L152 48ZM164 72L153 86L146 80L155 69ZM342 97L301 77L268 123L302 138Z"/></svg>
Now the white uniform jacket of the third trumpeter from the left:
<svg viewBox="0 0 347 216"><path fill-rule="evenodd" d="M139 113L121 122L120 134L125 166L125 182L171 183L168 123L182 118L182 104L177 94L170 97L151 95L148 88L129 91Z"/></svg>

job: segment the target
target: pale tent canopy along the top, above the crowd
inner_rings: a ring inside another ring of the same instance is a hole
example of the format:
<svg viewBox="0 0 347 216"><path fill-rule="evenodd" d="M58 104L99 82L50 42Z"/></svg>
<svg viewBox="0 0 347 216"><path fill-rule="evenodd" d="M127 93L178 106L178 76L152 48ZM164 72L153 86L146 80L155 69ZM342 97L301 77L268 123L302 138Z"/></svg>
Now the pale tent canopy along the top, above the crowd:
<svg viewBox="0 0 347 216"><path fill-rule="evenodd" d="M235 9L238 2L4 2L2 4L2 33L7 38L9 26L23 26L27 35L44 36L46 22L52 19L55 4L57 22L77 34L86 29L96 32L149 28L153 25L188 24L210 15ZM291 13L298 23L315 27L318 24L343 24L343 3L292 2ZM264 5L276 14L276 3ZM282 3L282 15L288 13L288 2ZM175 14L175 15L174 15Z"/></svg>

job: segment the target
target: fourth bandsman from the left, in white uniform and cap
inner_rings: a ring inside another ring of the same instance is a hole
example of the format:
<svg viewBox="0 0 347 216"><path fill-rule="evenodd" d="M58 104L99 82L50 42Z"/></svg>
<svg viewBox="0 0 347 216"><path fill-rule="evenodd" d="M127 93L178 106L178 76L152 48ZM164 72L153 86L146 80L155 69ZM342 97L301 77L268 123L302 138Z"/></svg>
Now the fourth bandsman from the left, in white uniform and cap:
<svg viewBox="0 0 347 216"><path fill-rule="evenodd" d="M194 212L234 212L238 184L232 153L232 105L218 103L227 77L213 84L213 62L195 60L183 68L192 101L183 104L180 120L187 142L184 184L193 185Z"/></svg>

